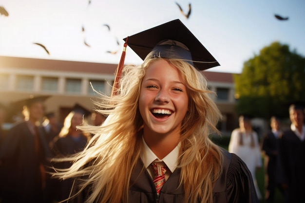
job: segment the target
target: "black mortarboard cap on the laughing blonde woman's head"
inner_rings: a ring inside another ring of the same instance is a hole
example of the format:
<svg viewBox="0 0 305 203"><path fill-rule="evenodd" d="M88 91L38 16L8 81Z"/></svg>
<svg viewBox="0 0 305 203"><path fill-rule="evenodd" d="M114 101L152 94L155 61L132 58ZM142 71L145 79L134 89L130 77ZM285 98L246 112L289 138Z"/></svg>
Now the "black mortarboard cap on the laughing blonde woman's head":
<svg viewBox="0 0 305 203"><path fill-rule="evenodd" d="M152 57L183 59L201 71L219 66L179 19L127 37L124 41L143 60Z"/></svg>

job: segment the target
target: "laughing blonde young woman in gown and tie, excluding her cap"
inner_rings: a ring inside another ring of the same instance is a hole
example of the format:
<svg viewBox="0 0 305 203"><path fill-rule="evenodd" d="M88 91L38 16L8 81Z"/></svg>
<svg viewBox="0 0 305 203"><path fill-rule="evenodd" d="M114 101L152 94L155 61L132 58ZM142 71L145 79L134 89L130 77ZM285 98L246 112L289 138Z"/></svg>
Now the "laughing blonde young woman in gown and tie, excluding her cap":
<svg viewBox="0 0 305 203"><path fill-rule="evenodd" d="M172 23L182 24L161 30ZM182 42L172 42L173 57L157 50L123 69L116 94L101 95L106 121L81 128L95 136L57 173L79 177L75 195L85 191L87 203L257 202L247 166L210 141L221 117L213 92L192 58L182 59Z"/></svg>

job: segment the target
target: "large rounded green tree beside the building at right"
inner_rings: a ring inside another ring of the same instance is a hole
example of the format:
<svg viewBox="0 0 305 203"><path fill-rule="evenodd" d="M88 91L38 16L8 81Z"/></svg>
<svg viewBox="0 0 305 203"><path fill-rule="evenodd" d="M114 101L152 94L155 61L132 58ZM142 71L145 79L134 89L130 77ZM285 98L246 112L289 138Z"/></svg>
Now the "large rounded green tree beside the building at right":
<svg viewBox="0 0 305 203"><path fill-rule="evenodd" d="M286 117L287 105L305 101L305 58L273 42L234 74L236 111L255 117Z"/></svg>

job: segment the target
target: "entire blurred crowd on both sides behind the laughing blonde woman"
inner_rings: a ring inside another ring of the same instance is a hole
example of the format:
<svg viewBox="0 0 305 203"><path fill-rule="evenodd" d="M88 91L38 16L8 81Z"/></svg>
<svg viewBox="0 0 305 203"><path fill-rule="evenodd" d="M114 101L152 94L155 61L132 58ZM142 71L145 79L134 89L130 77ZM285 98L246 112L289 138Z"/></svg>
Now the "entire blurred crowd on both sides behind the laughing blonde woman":
<svg viewBox="0 0 305 203"><path fill-rule="evenodd" d="M267 203L276 202L276 193L283 203L305 202L304 106L293 104L287 111L289 128L282 129L280 118L272 116L269 130L259 137L251 126L251 118L242 115L239 128L231 132L229 152L246 163L258 198ZM22 114L24 120L9 130L0 129L0 203L64 201L71 194L74 180L57 180L50 172L54 168L69 168L72 163L51 160L81 152L94 135L76 127L83 122L99 126L106 117L76 106L59 122L57 113L45 113L43 100L35 98L24 103ZM0 127L4 115L5 107L0 106ZM256 172L262 168L265 188L259 188L256 180Z"/></svg>

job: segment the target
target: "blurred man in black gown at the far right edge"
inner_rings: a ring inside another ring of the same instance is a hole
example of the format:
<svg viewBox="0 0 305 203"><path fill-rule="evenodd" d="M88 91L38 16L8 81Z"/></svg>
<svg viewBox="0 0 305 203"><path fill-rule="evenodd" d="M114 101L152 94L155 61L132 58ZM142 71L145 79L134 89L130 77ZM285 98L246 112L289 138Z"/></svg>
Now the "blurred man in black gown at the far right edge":
<svg viewBox="0 0 305 203"><path fill-rule="evenodd" d="M304 104L289 107L290 129L281 138L281 160L287 187L287 203L305 203Z"/></svg>

